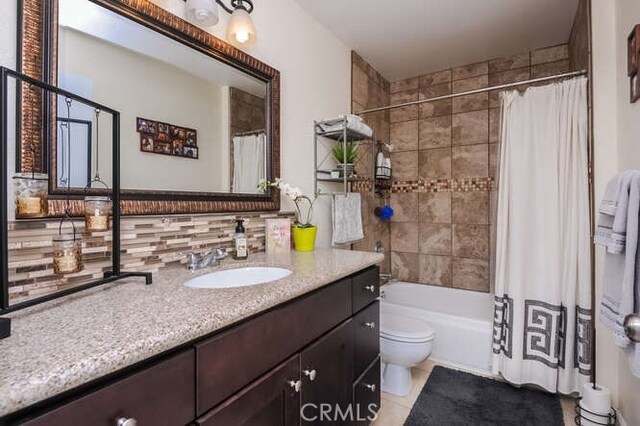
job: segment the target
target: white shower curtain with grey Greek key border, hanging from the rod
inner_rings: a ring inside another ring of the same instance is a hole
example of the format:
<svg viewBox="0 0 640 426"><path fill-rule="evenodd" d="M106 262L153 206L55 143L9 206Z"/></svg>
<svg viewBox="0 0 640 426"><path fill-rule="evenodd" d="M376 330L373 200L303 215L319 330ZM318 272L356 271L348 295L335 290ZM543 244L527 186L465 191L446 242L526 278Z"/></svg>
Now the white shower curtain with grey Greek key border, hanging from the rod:
<svg viewBox="0 0 640 426"><path fill-rule="evenodd" d="M502 96L493 371L578 391L591 372L587 81Z"/></svg>

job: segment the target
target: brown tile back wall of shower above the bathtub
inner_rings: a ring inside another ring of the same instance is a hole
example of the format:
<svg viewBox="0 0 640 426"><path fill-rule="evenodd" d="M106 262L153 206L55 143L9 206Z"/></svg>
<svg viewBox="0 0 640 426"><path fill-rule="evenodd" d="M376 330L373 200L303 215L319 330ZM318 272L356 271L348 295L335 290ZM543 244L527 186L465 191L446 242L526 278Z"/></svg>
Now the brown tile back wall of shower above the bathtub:
<svg viewBox="0 0 640 426"><path fill-rule="evenodd" d="M391 104L569 70L568 46L442 70L390 85ZM391 270L401 279L490 291L491 191L499 95L468 95L391 110L394 190Z"/></svg>

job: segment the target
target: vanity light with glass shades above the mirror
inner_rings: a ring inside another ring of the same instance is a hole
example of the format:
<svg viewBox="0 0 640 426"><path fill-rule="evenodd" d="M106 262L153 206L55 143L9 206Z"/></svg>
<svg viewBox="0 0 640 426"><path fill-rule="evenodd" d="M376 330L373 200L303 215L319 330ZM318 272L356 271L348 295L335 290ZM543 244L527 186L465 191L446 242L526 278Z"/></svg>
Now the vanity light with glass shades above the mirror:
<svg viewBox="0 0 640 426"><path fill-rule="evenodd" d="M253 12L252 0L231 0L231 7L223 0L184 0L187 2L187 19L197 25L210 27L220 19L217 4L231 14L227 26L227 40L236 47L251 47L256 42L256 28L249 14Z"/></svg>

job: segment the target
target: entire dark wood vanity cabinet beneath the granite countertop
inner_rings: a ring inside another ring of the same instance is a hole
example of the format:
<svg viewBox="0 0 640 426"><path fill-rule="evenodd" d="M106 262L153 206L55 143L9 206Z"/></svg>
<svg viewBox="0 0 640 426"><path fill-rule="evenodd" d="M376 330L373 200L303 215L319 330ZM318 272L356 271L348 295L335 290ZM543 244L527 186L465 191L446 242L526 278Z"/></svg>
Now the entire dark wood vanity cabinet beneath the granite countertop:
<svg viewBox="0 0 640 426"><path fill-rule="evenodd" d="M368 268L9 423L368 424L380 405L378 277Z"/></svg>

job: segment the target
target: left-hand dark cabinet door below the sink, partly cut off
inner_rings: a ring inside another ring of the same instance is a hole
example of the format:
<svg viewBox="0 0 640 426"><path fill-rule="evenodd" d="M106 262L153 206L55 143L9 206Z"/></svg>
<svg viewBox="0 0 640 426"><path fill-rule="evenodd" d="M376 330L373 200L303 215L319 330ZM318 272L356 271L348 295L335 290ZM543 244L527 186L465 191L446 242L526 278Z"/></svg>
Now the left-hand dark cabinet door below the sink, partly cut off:
<svg viewBox="0 0 640 426"><path fill-rule="evenodd" d="M300 387L300 356L295 355L198 418L195 424L299 425Z"/></svg>

